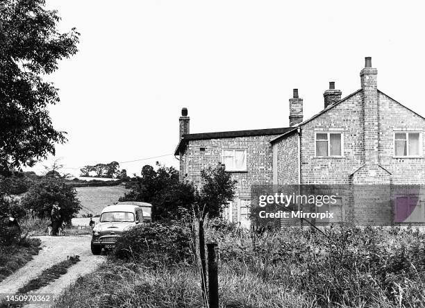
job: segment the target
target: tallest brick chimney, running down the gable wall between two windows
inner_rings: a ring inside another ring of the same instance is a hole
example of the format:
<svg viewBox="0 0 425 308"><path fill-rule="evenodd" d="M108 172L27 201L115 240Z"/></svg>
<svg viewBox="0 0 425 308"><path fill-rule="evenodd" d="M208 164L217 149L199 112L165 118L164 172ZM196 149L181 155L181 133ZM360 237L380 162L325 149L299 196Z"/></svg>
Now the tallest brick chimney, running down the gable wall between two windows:
<svg viewBox="0 0 425 308"><path fill-rule="evenodd" d="M365 163L378 164L378 70L372 68L372 58L365 58L365 68L360 71L363 90L363 134Z"/></svg>

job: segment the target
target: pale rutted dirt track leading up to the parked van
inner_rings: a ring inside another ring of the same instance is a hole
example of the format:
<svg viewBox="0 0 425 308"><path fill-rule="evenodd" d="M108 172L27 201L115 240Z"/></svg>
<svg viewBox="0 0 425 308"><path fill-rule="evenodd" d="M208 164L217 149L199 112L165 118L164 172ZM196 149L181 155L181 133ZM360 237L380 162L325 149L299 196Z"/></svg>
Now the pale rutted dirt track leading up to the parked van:
<svg viewBox="0 0 425 308"><path fill-rule="evenodd" d="M65 275L58 280L44 286L34 293L60 294L65 287L69 286L78 276L94 271L105 259L104 256L92 255L90 251L90 235L78 237L38 237L42 240L42 250L34 259L20 268L13 275L0 282L0 293L16 293L17 290L29 280L37 277L46 268L67 259L67 256L79 255L80 262L74 264ZM26 307L38 307L29 305ZM46 306L44 306L46 307Z"/></svg>

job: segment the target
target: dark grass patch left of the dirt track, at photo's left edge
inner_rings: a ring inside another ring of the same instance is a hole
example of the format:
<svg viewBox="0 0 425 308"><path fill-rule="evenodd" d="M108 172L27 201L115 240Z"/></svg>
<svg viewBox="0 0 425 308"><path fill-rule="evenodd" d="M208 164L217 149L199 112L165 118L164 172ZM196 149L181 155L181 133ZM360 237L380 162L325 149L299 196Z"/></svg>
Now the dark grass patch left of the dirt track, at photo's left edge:
<svg viewBox="0 0 425 308"><path fill-rule="evenodd" d="M25 237L14 245L0 246L0 282L38 255L40 245L40 239Z"/></svg>

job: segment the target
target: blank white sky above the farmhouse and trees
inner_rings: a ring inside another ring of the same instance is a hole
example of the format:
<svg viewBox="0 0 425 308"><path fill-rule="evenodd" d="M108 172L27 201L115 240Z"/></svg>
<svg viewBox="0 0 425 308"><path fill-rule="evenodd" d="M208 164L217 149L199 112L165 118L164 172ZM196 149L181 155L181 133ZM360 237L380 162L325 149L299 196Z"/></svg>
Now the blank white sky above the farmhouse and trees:
<svg viewBox="0 0 425 308"><path fill-rule="evenodd" d="M69 168L174 153L182 107L191 132L288 126L293 88L306 119L329 81L342 96L360 88L365 56L381 91L425 115L421 1L47 3L61 31L81 33L78 54L49 76L61 99L53 124L69 139L56 157ZM121 167L156 160L178 166L170 155Z"/></svg>

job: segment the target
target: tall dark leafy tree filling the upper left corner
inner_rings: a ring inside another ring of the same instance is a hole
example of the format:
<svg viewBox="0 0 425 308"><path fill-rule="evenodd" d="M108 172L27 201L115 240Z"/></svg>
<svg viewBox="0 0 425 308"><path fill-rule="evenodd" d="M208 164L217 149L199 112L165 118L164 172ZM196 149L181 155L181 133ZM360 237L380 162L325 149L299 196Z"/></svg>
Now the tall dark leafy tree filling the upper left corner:
<svg viewBox="0 0 425 308"><path fill-rule="evenodd" d="M0 1L0 173L33 166L55 153L65 132L53 128L47 107L58 89L43 80L77 52L79 33L56 29L60 17L44 0Z"/></svg>

